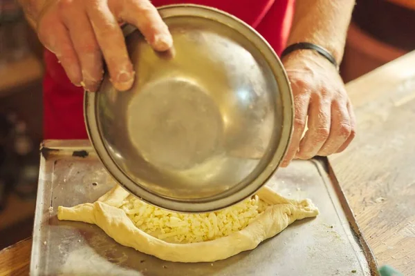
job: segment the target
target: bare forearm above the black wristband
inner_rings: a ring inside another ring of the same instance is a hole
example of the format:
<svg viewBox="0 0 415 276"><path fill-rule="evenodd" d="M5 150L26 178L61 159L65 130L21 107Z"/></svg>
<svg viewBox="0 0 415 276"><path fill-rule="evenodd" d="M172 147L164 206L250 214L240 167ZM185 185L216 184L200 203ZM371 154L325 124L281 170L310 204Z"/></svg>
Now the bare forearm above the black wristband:
<svg viewBox="0 0 415 276"><path fill-rule="evenodd" d="M355 0L296 0L288 45L309 42L320 45L340 63Z"/></svg>

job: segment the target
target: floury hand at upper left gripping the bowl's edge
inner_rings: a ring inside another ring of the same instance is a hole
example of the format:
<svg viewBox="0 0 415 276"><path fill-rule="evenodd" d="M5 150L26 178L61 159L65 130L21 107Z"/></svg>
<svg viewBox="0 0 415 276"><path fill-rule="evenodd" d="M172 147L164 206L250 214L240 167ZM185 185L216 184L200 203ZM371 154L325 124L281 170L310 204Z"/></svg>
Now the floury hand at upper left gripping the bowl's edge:
<svg viewBox="0 0 415 276"><path fill-rule="evenodd" d="M168 50L173 43L149 0L46 0L35 21L40 41L55 53L72 83L89 91L102 80L102 57L116 89L133 84L121 21L136 26L154 50Z"/></svg>

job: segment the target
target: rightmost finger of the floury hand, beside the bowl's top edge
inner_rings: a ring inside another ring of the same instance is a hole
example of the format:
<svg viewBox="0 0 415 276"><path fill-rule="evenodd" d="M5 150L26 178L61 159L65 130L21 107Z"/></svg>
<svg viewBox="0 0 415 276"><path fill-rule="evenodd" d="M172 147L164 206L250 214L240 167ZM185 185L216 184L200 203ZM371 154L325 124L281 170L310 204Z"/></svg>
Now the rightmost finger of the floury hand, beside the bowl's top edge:
<svg viewBox="0 0 415 276"><path fill-rule="evenodd" d="M116 15L136 26L154 50L163 52L172 47L173 39L169 28L149 0L124 1Z"/></svg>

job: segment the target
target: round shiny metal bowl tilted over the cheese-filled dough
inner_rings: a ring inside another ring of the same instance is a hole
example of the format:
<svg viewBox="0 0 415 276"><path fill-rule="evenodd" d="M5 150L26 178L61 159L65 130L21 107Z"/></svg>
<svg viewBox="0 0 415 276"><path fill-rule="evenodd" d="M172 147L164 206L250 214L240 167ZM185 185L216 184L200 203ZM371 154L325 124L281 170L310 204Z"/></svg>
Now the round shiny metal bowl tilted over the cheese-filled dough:
<svg viewBox="0 0 415 276"><path fill-rule="evenodd" d="M178 212L225 208L273 175L293 128L291 88L275 52L230 14L194 5L159 9L174 50L157 53L124 28L136 70L118 92L105 73L86 92L86 127L116 181Z"/></svg>

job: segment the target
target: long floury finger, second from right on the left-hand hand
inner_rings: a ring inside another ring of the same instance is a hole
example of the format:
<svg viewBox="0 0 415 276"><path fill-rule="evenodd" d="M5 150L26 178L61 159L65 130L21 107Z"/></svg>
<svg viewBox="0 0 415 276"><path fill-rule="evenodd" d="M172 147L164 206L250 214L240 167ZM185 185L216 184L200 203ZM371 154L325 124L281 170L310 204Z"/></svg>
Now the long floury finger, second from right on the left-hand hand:
<svg viewBox="0 0 415 276"><path fill-rule="evenodd" d="M134 71L118 21L107 1L97 0L96 5L86 7L113 86L117 90L128 90L133 85Z"/></svg>

